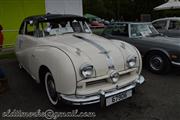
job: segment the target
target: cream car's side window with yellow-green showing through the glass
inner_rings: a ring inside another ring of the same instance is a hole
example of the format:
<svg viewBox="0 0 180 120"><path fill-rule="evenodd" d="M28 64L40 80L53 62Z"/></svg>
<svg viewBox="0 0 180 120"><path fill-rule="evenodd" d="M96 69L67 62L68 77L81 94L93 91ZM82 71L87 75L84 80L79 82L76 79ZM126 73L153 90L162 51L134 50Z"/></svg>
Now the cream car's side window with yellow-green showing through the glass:
<svg viewBox="0 0 180 120"><path fill-rule="evenodd" d="M34 36L34 33L35 33L35 25L33 23L30 23L30 21L26 22L25 34Z"/></svg>

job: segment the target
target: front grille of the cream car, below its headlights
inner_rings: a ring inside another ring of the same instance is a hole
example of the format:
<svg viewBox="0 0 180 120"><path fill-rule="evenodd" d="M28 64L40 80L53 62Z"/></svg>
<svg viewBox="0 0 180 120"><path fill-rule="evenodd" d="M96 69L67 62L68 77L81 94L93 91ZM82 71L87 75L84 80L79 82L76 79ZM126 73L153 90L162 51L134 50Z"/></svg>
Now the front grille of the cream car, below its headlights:
<svg viewBox="0 0 180 120"><path fill-rule="evenodd" d="M126 71L119 72L120 79L116 84L113 84L112 81L109 79L109 76L100 77L100 78L93 78L92 80L82 80L78 83L77 87L77 94L83 93L93 93L98 92L98 90L109 90L115 86L124 86L130 82L133 82L137 77L138 74L136 73L135 68L129 69Z"/></svg>

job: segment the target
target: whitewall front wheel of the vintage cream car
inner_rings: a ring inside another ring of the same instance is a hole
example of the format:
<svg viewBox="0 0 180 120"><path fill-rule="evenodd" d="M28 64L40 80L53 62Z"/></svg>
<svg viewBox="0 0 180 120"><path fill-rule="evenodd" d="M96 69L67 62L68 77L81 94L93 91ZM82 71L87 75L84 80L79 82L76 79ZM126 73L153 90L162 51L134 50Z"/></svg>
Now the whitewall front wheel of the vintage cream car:
<svg viewBox="0 0 180 120"><path fill-rule="evenodd" d="M52 105L57 106L59 104L59 98L56 92L56 86L54 83L53 76L50 72L45 74L45 88L49 101Z"/></svg>

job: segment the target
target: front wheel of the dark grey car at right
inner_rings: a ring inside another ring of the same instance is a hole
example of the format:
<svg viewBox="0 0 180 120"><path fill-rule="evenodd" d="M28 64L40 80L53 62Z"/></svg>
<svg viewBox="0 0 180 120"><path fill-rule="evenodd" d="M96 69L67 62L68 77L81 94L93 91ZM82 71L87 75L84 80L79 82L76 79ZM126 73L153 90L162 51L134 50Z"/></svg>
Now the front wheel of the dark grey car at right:
<svg viewBox="0 0 180 120"><path fill-rule="evenodd" d="M161 52L148 54L146 57L146 66L151 72L158 74L167 73L171 68L168 57Z"/></svg>

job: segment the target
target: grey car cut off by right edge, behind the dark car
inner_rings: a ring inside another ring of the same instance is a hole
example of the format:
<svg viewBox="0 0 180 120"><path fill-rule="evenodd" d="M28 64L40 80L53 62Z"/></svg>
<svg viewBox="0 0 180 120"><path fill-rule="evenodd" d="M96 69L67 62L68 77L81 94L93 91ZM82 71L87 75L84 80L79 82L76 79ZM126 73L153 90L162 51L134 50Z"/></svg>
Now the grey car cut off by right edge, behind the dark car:
<svg viewBox="0 0 180 120"><path fill-rule="evenodd" d="M169 17L154 20L154 27L168 37L180 37L180 17Z"/></svg>

